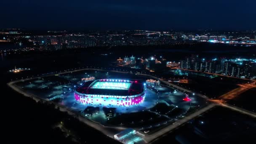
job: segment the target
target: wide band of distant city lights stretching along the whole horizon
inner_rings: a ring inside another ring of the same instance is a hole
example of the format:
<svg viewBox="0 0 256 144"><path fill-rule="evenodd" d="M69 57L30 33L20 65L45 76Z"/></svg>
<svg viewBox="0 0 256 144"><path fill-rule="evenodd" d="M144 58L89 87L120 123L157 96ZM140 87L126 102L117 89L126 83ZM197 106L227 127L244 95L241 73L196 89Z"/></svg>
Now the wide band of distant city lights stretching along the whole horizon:
<svg viewBox="0 0 256 144"><path fill-rule="evenodd" d="M23 51L57 51L105 46L194 44L197 41L256 45L256 32L180 32L173 30L157 32L134 30L90 32L48 31L34 34L20 29L5 29L0 32L0 42L19 43L21 45L25 43L28 48L23 48Z"/></svg>

